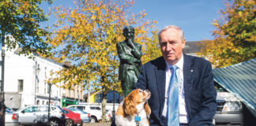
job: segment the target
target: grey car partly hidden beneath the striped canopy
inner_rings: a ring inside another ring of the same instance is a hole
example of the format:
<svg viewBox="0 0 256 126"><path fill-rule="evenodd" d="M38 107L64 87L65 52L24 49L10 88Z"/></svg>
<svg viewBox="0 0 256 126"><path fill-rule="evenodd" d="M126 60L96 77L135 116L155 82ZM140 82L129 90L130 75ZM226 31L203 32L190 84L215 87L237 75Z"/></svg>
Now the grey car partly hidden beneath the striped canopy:
<svg viewBox="0 0 256 126"><path fill-rule="evenodd" d="M213 122L217 125L243 126L243 105L239 98L215 83L217 110Z"/></svg>

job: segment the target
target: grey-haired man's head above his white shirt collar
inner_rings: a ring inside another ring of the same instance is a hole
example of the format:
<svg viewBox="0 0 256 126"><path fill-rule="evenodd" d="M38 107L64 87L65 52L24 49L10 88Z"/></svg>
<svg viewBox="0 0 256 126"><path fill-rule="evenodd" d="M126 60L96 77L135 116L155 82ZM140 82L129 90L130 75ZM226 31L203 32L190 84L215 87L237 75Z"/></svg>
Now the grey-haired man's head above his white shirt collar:
<svg viewBox="0 0 256 126"><path fill-rule="evenodd" d="M182 57L186 43L185 39L181 39L178 30L168 29L161 32L159 43L164 60L171 65L175 65Z"/></svg>

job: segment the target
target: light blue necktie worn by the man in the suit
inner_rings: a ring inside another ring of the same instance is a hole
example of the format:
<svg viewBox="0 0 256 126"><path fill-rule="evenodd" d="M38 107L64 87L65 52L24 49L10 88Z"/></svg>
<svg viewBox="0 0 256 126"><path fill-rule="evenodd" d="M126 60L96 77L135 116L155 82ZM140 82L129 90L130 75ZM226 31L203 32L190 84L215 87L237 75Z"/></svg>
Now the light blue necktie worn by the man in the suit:
<svg viewBox="0 0 256 126"><path fill-rule="evenodd" d="M179 84L177 66L171 66L171 80L168 87L168 126L179 126Z"/></svg>

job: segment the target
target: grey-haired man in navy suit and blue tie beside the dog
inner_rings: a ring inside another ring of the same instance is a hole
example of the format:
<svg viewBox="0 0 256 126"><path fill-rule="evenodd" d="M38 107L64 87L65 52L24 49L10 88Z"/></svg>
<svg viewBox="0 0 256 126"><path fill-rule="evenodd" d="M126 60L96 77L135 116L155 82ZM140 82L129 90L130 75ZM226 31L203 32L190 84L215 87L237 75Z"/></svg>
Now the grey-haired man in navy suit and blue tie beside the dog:
<svg viewBox="0 0 256 126"><path fill-rule="evenodd" d="M212 66L183 54L183 30L171 25L159 33L162 57L142 66L137 88L149 89L151 126L209 126L216 113Z"/></svg>

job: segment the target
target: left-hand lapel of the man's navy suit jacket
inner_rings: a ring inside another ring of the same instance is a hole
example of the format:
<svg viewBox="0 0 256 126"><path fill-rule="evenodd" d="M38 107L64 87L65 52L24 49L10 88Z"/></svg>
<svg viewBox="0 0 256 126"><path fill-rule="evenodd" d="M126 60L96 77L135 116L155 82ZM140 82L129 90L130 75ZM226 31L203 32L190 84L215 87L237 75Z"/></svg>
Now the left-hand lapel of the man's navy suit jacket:
<svg viewBox="0 0 256 126"><path fill-rule="evenodd" d="M162 112L164 108L164 97L165 97L165 61L164 57L160 59L159 65L156 67L156 84L157 91L160 98L160 112Z"/></svg>

